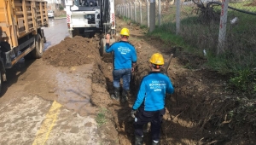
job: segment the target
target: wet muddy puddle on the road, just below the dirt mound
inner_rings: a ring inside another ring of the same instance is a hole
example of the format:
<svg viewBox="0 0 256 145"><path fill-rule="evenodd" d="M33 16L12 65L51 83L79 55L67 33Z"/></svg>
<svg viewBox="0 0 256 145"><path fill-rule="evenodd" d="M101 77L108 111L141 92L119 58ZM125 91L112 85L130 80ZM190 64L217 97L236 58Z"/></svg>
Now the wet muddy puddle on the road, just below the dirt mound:
<svg viewBox="0 0 256 145"><path fill-rule="evenodd" d="M56 73L56 85L53 90L57 94L57 102L60 102L67 109L83 114L90 114L92 96L91 76L92 64L64 68Z"/></svg>

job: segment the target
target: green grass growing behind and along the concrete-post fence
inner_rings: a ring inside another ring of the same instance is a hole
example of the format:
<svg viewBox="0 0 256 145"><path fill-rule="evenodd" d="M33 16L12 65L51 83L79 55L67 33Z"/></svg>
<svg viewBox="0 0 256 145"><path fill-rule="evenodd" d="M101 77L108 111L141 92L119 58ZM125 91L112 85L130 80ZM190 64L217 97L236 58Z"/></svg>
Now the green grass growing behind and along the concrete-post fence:
<svg viewBox="0 0 256 145"><path fill-rule="evenodd" d="M256 7L246 6L247 3L251 2L230 3L229 6L255 13ZM205 18L200 19L201 14L195 14L192 7L183 6L180 16L180 31L176 35L176 8L172 7L168 12L162 14L161 26L157 26L158 21L156 18L154 32L150 32L147 35L160 38L166 44L171 43L174 47L182 47L184 51L195 55L202 56L203 49L206 49L207 67L222 74L234 74L232 78L235 79L230 78L230 80L233 80L235 90L239 90L239 87L242 87L242 90L247 90L244 84L237 83L238 81L247 82L247 84L252 86L248 88L251 90L249 94L253 94L255 91L252 88L255 90L256 80L249 79L250 81L248 82L247 78L243 75L244 71L251 72L253 68L256 68L256 16L228 9L225 52L218 55L218 15L220 14L220 9L221 6L216 6L213 9L217 19L206 21ZM231 25L230 20L235 17L238 18L238 23ZM246 87L248 86L246 85Z"/></svg>

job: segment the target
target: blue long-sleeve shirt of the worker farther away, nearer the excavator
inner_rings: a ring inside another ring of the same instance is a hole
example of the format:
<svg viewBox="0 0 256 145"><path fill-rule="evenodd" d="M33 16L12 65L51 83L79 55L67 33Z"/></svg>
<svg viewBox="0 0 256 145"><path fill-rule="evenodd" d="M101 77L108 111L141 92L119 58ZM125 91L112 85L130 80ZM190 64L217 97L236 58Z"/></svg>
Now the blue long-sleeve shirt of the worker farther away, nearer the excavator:
<svg viewBox="0 0 256 145"><path fill-rule="evenodd" d="M113 67L115 70L131 68L131 63L137 62L137 52L132 44L125 41L119 41L112 45L106 44L105 51L113 52Z"/></svg>

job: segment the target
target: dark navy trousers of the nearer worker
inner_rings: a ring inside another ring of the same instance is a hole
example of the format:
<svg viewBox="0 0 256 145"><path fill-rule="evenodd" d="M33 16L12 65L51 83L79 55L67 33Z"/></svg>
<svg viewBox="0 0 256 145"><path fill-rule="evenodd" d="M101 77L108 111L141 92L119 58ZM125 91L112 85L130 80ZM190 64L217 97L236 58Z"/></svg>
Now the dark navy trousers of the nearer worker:
<svg viewBox="0 0 256 145"><path fill-rule="evenodd" d="M139 107L136 119L134 122L135 135L143 136L143 125L151 122L151 136L154 141L160 141L160 129L163 120L163 115L166 113L166 108L157 111L144 111L143 107Z"/></svg>

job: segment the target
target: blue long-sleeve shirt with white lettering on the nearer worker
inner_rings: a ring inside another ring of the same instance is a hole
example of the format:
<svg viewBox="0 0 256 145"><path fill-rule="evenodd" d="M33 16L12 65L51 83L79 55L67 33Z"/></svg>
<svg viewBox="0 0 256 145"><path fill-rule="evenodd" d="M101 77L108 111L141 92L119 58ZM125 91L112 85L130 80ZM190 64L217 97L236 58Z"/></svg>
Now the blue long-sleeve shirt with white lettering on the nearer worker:
<svg viewBox="0 0 256 145"><path fill-rule="evenodd" d="M163 73L149 73L142 80L137 100L132 109L137 110L144 102L145 111L156 111L165 107L166 92L172 94L174 88L170 78Z"/></svg>

